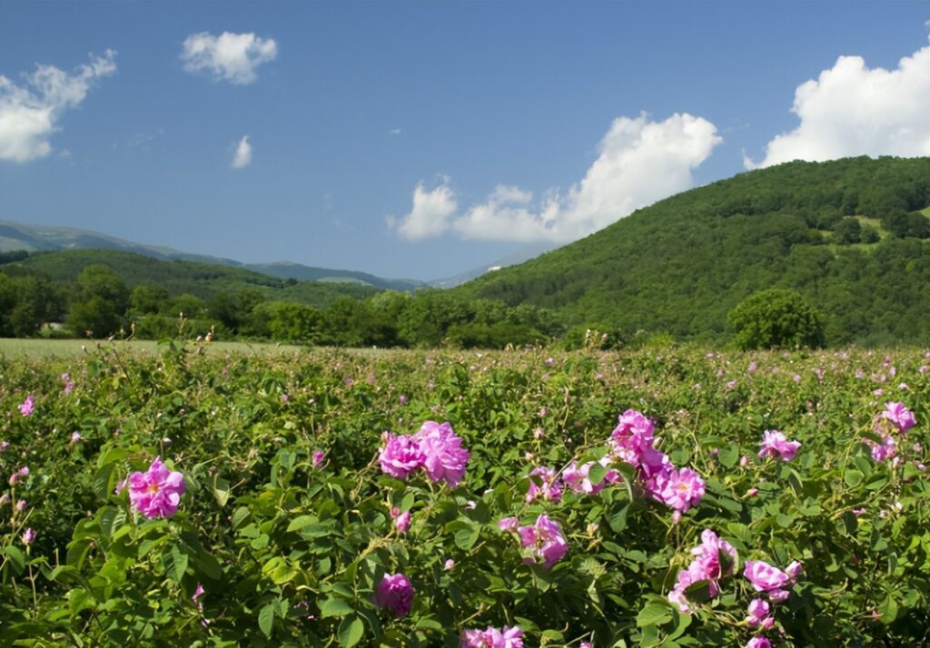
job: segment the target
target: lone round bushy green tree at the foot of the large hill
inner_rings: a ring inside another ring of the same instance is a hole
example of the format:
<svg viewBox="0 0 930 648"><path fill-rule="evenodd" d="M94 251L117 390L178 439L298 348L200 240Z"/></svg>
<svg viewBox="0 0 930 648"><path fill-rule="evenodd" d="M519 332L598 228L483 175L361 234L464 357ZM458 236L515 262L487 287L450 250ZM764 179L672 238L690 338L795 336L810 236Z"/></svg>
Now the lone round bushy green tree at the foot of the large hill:
<svg viewBox="0 0 930 648"><path fill-rule="evenodd" d="M751 295L726 321L743 350L818 348L825 342L823 315L793 290L773 288Z"/></svg>

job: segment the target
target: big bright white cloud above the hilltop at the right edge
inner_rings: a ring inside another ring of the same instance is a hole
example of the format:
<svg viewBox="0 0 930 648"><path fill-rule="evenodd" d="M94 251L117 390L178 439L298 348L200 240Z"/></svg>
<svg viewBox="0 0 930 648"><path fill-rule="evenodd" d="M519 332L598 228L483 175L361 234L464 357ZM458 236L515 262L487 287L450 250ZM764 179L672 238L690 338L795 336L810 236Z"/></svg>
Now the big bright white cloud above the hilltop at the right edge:
<svg viewBox="0 0 930 648"><path fill-rule="evenodd" d="M798 86L791 107L801 125L772 139L758 166L852 155L930 155L930 47L870 69L857 56ZM755 165L744 161L747 168Z"/></svg>

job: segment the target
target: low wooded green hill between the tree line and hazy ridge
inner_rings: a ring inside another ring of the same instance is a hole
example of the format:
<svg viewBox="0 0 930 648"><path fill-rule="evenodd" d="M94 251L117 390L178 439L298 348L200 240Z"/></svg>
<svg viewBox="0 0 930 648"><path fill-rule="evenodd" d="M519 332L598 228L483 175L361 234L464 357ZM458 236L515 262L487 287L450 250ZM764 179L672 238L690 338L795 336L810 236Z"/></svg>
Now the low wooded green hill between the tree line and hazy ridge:
<svg viewBox="0 0 930 648"><path fill-rule="evenodd" d="M35 252L18 264L27 271L46 275L56 284L74 282L87 266L101 264L115 271L130 290L140 284L157 285L165 288L170 297L189 294L209 299L220 292L235 293L251 288L266 299L322 307L341 296L365 298L379 292L364 284L298 282L242 268L198 261L163 261L118 250ZM15 271L10 266L6 269Z"/></svg>

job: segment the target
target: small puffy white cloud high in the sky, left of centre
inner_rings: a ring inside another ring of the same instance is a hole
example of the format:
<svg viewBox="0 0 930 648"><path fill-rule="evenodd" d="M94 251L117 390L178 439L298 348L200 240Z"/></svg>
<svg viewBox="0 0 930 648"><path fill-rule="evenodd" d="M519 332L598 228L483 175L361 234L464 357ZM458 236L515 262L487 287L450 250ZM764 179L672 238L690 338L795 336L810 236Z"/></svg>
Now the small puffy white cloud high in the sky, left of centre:
<svg viewBox="0 0 930 648"><path fill-rule="evenodd" d="M194 33L184 41L180 54L184 70L211 73L218 81L246 86L258 76L255 69L275 60L278 45L272 38L257 38L254 33Z"/></svg>

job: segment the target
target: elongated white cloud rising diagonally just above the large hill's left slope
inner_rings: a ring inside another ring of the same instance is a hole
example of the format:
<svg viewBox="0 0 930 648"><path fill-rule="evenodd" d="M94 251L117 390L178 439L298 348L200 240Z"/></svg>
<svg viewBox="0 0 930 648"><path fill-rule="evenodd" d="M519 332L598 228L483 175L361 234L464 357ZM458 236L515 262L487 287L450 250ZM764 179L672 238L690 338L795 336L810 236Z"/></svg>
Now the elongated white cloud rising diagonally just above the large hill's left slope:
<svg viewBox="0 0 930 648"><path fill-rule="evenodd" d="M455 194L444 182L433 191L441 191L444 205L452 209L434 217L431 212L418 212L419 185L414 209L392 221L392 226L412 240L452 231L461 238L485 241L576 241L639 207L690 189L691 171L720 141L711 122L687 113L673 114L663 122L651 121L645 113L618 117L585 177L564 194L550 190L534 203L532 192L498 185L485 202L454 216Z"/></svg>

